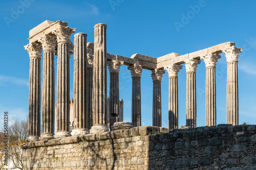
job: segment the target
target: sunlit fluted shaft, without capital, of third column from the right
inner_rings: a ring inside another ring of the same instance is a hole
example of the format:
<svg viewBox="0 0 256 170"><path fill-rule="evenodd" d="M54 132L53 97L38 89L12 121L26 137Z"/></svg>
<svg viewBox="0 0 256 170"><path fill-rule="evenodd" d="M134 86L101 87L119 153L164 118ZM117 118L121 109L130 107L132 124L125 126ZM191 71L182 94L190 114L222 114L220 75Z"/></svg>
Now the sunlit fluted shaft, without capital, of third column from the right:
<svg viewBox="0 0 256 170"><path fill-rule="evenodd" d="M187 72L186 125L197 127L196 72Z"/></svg>

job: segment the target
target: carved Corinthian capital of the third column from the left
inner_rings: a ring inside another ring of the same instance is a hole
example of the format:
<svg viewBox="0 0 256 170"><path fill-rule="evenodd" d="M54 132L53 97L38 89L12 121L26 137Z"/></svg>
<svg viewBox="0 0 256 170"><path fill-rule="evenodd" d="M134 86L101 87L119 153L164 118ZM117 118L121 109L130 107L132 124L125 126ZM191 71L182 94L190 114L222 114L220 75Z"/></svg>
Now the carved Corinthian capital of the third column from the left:
<svg viewBox="0 0 256 170"><path fill-rule="evenodd" d="M72 33L76 32L76 29L65 26L59 26L52 31L57 36L57 42L68 42Z"/></svg>

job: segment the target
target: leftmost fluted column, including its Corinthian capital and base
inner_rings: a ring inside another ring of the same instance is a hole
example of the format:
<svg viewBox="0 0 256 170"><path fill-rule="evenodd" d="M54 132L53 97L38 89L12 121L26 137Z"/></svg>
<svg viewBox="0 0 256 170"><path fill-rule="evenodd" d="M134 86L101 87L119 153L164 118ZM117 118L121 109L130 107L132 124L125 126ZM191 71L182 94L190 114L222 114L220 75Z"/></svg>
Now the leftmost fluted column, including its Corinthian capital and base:
<svg viewBox="0 0 256 170"><path fill-rule="evenodd" d="M30 57L28 141L37 141L40 136L40 60L42 47L41 44L33 42L24 47Z"/></svg>

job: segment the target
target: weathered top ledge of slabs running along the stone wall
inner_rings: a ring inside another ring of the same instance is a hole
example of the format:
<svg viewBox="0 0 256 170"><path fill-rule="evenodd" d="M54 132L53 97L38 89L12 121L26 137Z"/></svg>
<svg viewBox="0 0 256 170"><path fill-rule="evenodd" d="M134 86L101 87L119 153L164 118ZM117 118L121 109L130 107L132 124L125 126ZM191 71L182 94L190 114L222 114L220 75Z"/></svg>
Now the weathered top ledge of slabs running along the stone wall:
<svg viewBox="0 0 256 170"><path fill-rule="evenodd" d="M134 127L128 130L112 130L110 132L101 132L96 134L86 134L80 136L71 136L63 138L55 138L51 140L40 140L35 142L27 142L20 145L22 149L29 148L39 148L39 147L50 147L60 144L72 144L84 141L100 141L108 139L119 139L134 136L146 136L153 135L159 138L162 133L169 133L173 137L178 138L189 138L192 136L206 135L214 136L215 134L231 133L233 135L244 135L247 131L256 131L256 125L238 125L232 126L229 124L220 124L216 127L198 127L198 128L188 128L188 129L173 129L169 131L167 128L162 127L150 127L141 126ZM165 135L166 136L166 135ZM256 141L255 139L253 139Z"/></svg>

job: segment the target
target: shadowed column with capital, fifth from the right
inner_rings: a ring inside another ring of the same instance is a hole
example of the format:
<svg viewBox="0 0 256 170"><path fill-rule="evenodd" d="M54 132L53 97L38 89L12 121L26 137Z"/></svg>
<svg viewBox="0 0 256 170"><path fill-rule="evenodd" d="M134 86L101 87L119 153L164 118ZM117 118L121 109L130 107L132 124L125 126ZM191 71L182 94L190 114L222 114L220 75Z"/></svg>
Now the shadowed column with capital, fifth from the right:
<svg viewBox="0 0 256 170"><path fill-rule="evenodd" d="M164 70L153 69L153 126L162 127L162 111L161 111L161 80L164 74Z"/></svg>

